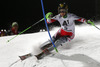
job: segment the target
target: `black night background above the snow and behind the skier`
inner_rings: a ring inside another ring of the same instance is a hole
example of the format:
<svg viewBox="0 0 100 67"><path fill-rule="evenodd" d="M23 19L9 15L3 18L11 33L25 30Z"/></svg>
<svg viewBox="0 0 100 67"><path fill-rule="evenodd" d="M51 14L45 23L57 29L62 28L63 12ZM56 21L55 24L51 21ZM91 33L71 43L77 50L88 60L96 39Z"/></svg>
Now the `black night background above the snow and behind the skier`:
<svg viewBox="0 0 100 67"><path fill-rule="evenodd" d="M66 2L69 12L86 19L100 19L100 0L43 0L45 13L58 14L57 7L61 2ZM3 0L0 2L0 29L8 30L12 22L19 24L22 31L43 18L40 0ZM59 25L55 23L55 25ZM38 32L45 28L44 21L32 27L27 32Z"/></svg>

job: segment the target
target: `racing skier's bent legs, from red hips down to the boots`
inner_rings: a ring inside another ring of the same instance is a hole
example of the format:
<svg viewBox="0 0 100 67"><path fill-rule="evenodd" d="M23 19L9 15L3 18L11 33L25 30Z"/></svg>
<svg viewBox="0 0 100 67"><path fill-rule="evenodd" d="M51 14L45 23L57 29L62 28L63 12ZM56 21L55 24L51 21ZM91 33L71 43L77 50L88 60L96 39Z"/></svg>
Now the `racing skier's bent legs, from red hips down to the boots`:
<svg viewBox="0 0 100 67"><path fill-rule="evenodd" d="M61 43L67 42L67 37L72 36L72 32L64 31L63 29L58 30L55 36L52 37L52 40L55 43L55 46L58 47ZM52 42L48 40L47 42L43 43L40 47L43 51L42 53L36 55L38 59L42 58L43 55L48 55L50 51L54 49Z"/></svg>

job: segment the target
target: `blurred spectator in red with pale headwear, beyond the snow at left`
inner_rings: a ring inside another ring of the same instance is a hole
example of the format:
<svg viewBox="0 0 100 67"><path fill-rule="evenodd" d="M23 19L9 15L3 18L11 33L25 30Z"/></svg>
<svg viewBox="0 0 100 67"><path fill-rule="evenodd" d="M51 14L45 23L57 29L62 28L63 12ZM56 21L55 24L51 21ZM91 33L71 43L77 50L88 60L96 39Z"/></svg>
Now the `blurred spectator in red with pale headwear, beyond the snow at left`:
<svg viewBox="0 0 100 67"><path fill-rule="evenodd" d="M17 35L19 32L18 32L18 23L17 22L13 22L12 23L12 28L10 30L8 30L7 34L8 35Z"/></svg>

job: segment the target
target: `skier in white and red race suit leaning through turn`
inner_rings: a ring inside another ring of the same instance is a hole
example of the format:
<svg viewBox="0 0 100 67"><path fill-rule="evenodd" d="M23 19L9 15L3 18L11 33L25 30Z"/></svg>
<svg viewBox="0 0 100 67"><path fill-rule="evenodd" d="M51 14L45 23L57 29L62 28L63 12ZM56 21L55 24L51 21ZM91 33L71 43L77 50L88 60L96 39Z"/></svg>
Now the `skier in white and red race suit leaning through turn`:
<svg viewBox="0 0 100 67"><path fill-rule="evenodd" d="M47 23L53 23L58 21L61 25L61 28L58 32L52 37L52 40L56 47L62 45L62 43L71 41L75 36L75 20L83 23L88 23L84 18L78 17L74 14L68 13L68 6L65 3L61 3L58 6L58 15L53 16L52 12L46 14ZM40 46L42 52L38 55L35 55L37 59L41 59L44 56L48 55L50 51L54 49L51 40L46 41ZM31 56L27 54L26 56ZM24 60L26 57L20 57Z"/></svg>

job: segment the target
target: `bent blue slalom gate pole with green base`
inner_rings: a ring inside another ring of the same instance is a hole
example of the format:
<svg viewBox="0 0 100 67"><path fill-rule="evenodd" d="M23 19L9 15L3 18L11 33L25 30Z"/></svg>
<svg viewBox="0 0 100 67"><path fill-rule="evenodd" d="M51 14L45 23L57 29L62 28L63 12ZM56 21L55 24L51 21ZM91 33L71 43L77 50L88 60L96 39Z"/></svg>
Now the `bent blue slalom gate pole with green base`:
<svg viewBox="0 0 100 67"><path fill-rule="evenodd" d="M46 17L45 17L44 5L43 5L43 1L42 0L41 0L41 6L42 6L42 11L43 11L43 16L44 16L44 20L45 20L45 25L46 25L46 28L47 28L49 37L51 39L51 42L53 44L53 47L54 47L55 51L58 52L58 50L57 50L57 48L56 48L56 46L55 46L55 44L54 44L54 42L53 42L53 40L51 38L50 32L49 32L49 28L48 28L47 21L46 21Z"/></svg>

